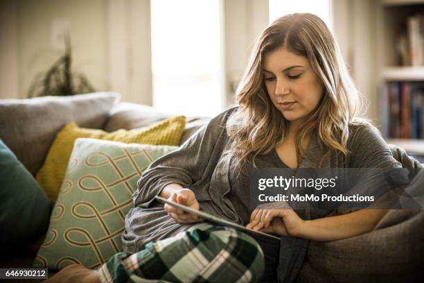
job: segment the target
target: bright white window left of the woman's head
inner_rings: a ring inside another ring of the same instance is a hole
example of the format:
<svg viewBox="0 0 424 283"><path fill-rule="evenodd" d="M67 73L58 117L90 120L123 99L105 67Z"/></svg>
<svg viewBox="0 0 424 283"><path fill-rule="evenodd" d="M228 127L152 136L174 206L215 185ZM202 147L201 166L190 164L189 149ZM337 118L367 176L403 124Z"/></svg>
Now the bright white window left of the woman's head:
<svg viewBox="0 0 424 283"><path fill-rule="evenodd" d="M215 116L223 110L221 1L151 1L157 110L186 116Z"/></svg>

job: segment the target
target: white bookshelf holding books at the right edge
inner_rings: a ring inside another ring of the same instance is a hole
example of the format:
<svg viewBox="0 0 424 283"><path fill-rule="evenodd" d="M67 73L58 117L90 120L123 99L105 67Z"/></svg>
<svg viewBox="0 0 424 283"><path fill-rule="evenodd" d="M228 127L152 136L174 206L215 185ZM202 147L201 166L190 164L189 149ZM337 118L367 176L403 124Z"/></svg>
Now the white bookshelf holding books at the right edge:
<svg viewBox="0 0 424 283"><path fill-rule="evenodd" d="M389 144L424 156L424 0L376 1L379 119Z"/></svg>

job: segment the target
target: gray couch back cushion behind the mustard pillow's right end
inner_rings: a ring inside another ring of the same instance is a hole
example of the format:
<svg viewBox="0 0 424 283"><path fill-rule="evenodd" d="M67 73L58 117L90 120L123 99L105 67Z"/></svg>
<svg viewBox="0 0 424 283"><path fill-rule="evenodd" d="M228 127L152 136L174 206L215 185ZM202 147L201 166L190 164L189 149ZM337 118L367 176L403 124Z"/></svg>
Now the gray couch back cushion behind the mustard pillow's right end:
<svg viewBox="0 0 424 283"><path fill-rule="evenodd" d="M112 109L104 130L113 132L118 129L131 130L147 127L151 126L152 123L157 123L170 117L173 117L173 115L157 112L152 106L123 102ZM188 117L186 121L186 129L183 132L179 144L183 144L184 141L199 130L204 123L209 121L209 118Z"/></svg>

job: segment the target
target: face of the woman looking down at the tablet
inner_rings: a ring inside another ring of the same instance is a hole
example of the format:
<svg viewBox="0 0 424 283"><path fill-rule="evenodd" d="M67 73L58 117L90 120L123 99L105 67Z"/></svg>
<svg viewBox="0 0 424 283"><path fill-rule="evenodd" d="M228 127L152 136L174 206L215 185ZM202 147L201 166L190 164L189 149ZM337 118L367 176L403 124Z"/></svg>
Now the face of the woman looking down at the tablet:
<svg viewBox="0 0 424 283"><path fill-rule="evenodd" d="M321 81L308 58L281 47L265 54L263 72L272 103L290 123L299 124L321 101Z"/></svg>

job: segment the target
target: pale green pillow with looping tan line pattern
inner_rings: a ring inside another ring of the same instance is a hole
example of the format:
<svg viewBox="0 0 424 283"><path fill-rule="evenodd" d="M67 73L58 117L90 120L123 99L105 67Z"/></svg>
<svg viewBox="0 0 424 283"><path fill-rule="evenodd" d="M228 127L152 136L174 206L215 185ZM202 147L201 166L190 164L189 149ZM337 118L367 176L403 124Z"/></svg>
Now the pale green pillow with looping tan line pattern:
<svg viewBox="0 0 424 283"><path fill-rule="evenodd" d="M119 252L136 181L151 162L176 148L77 139L34 266L97 268Z"/></svg>

